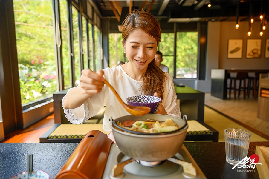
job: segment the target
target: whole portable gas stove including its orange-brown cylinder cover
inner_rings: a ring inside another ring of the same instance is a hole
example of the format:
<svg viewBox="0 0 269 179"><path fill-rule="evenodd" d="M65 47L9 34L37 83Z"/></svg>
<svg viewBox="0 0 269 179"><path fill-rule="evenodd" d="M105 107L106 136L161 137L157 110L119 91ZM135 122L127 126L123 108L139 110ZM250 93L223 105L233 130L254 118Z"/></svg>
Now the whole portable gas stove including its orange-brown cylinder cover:
<svg viewBox="0 0 269 179"><path fill-rule="evenodd" d="M124 155L103 132L93 130L84 136L55 178L206 177L184 145L167 160L138 161Z"/></svg>

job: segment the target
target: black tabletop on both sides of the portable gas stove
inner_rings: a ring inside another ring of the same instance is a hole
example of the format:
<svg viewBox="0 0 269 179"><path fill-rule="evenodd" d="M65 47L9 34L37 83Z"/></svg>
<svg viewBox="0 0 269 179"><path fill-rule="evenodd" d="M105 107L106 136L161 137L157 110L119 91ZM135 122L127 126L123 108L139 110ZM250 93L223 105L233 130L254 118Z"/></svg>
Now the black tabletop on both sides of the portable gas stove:
<svg viewBox="0 0 269 179"><path fill-rule="evenodd" d="M55 178L78 143L1 143L1 178L27 171L27 154L33 154L33 170L43 170ZM224 142L185 142L184 145L207 178L259 178L254 172L238 172L226 163ZM248 156L255 146L268 142L250 142Z"/></svg>

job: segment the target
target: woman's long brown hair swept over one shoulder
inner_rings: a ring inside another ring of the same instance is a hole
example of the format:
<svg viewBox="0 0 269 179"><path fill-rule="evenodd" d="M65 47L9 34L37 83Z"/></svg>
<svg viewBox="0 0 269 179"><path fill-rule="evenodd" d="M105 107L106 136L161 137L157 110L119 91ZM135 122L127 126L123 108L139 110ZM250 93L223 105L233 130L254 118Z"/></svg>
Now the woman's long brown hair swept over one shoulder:
<svg viewBox="0 0 269 179"><path fill-rule="evenodd" d="M141 10L134 10L123 21L122 40L125 44L129 34L135 30L141 29L149 34L157 41L157 46L161 41L161 28L158 21L149 13ZM164 72L157 66L153 59L143 76L143 90L144 95L154 95L158 93L160 98L163 98L164 87L163 83L166 79Z"/></svg>

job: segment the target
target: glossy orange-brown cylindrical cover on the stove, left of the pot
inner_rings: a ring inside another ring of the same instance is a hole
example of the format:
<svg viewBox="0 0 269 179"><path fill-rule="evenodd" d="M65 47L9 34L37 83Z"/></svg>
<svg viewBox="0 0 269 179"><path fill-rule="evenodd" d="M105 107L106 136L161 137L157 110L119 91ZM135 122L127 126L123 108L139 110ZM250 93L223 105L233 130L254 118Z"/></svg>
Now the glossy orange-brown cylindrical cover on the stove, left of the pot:
<svg viewBox="0 0 269 179"><path fill-rule="evenodd" d="M88 132L55 178L102 178L112 143L101 131Z"/></svg>

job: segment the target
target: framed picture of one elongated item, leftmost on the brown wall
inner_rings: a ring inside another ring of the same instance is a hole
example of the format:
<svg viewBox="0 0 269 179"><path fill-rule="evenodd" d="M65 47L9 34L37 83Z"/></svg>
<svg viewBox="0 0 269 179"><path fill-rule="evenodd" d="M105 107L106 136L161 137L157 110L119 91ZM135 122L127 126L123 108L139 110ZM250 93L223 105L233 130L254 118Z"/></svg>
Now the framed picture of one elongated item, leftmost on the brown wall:
<svg viewBox="0 0 269 179"><path fill-rule="evenodd" d="M227 58L242 58L242 39L229 39Z"/></svg>

